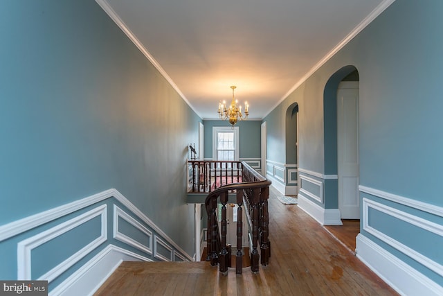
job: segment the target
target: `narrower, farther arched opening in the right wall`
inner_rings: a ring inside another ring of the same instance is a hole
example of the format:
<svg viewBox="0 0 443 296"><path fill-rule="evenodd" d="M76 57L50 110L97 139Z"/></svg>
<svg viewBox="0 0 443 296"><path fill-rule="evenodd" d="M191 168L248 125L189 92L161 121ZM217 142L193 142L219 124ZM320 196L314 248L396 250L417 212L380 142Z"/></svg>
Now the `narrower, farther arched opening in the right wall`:
<svg viewBox="0 0 443 296"><path fill-rule="evenodd" d="M286 195L298 195L298 103L289 105L286 111Z"/></svg>

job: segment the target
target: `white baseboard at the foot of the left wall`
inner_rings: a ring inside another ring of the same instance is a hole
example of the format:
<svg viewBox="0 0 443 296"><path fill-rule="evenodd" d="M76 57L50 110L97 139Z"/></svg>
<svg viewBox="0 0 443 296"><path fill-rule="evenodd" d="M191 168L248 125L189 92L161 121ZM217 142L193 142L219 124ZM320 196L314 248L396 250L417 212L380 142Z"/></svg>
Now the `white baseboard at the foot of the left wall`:
<svg viewBox="0 0 443 296"><path fill-rule="evenodd" d="M123 261L152 260L116 245L107 245L93 259L65 279L62 284L51 290L49 295L93 295Z"/></svg>

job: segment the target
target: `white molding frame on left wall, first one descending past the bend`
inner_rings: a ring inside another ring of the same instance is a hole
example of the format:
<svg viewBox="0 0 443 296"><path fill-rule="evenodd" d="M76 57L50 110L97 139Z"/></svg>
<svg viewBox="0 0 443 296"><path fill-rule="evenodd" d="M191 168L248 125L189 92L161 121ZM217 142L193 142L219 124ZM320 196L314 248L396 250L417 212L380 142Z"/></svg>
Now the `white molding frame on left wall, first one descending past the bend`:
<svg viewBox="0 0 443 296"><path fill-rule="evenodd" d="M134 226L136 229L138 229L140 232L143 232L148 237L149 241L149 247L144 245L143 243L136 241L134 238L130 238L129 236L123 234L118 230L118 218L122 218L130 225ZM120 209L116 204L114 204L114 223L113 223L113 237L121 241L122 243L126 243L127 245L130 245L132 247L137 248L138 250L141 250L147 254L152 254L152 232L150 232L149 229L147 229L144 225L142 225L140 222L138 222L134 217L129 216L123 209Z"/></svg>

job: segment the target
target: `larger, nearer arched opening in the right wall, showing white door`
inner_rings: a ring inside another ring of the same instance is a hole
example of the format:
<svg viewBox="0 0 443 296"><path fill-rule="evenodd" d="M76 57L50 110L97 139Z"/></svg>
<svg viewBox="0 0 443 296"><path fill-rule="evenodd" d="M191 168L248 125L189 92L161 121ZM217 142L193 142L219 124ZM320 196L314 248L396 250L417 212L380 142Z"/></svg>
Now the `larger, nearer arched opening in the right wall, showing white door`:
<svg viewBox="0 0 443 296"><path fill-rule="evenodd" d="M327 226L355 250L359 202L359 72L350 65L327 81L323 97L325 128L325 208L339 209L342 226ZM326 182L327 181L327 182Z"/></svg>

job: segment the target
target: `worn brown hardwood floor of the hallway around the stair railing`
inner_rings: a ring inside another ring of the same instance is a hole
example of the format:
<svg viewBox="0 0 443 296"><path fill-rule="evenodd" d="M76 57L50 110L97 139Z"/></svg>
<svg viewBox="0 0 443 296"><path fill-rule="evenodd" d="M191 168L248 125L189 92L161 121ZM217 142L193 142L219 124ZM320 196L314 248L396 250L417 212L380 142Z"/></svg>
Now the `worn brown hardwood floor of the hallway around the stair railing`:
<svg viewBox="0 0 443 296"><path fill-rule="evenodd" d="M204 262L124 262L96 295L397 295L297 205L271 188L271 258L227 276Z"/></svg>

